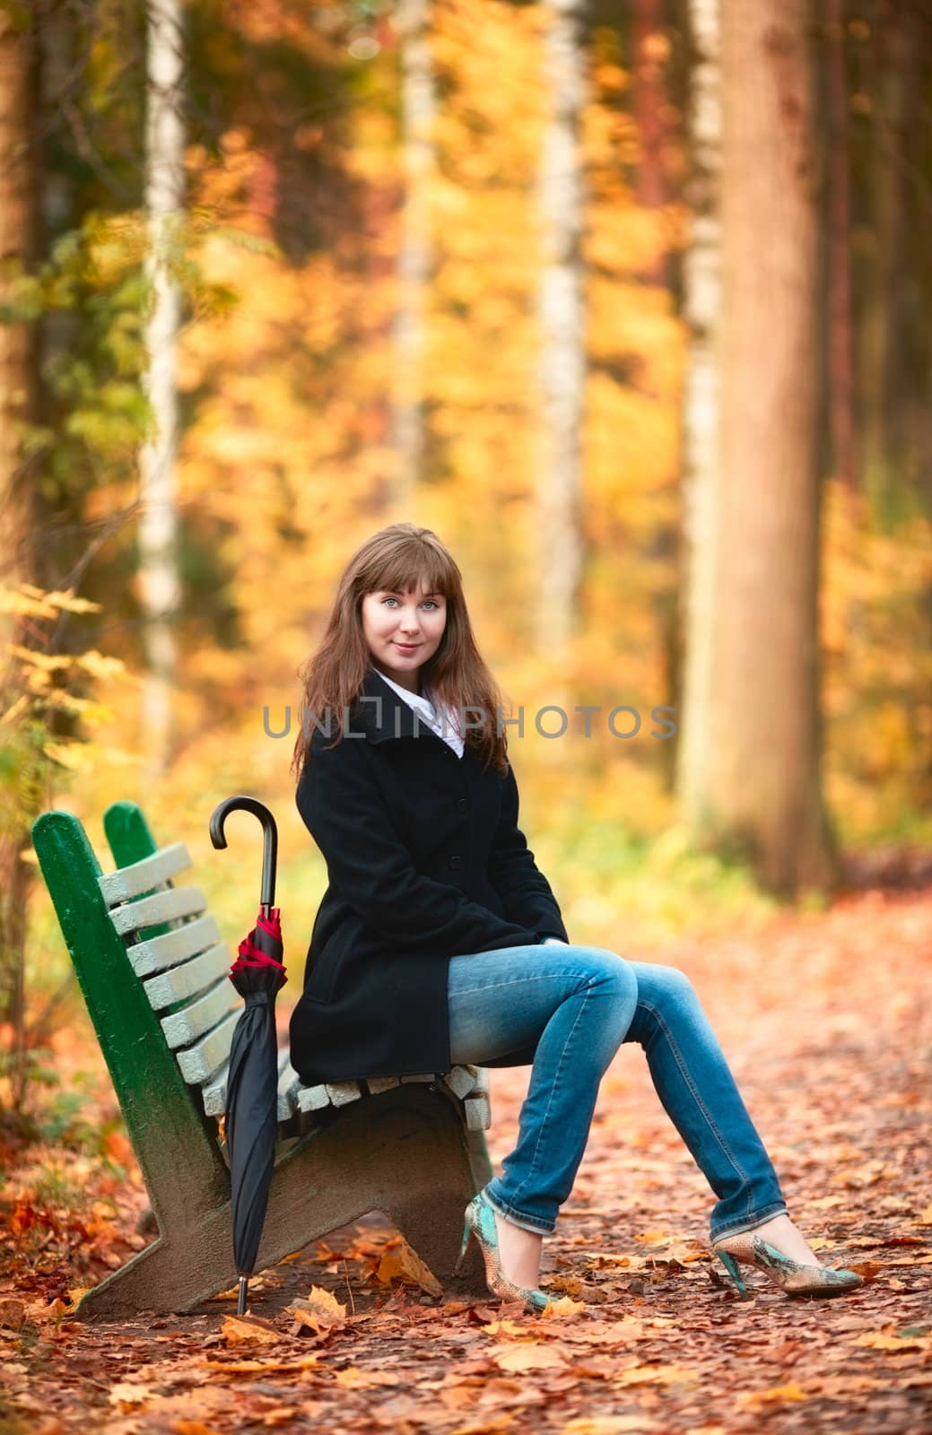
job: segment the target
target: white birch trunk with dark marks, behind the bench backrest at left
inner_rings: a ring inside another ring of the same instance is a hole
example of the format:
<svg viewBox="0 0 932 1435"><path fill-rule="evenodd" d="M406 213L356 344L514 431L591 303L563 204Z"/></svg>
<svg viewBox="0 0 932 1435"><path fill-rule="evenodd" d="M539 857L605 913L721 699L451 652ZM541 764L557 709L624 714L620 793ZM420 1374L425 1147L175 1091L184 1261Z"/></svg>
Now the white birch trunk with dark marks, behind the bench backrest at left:
<svg viewBox="0 0 932 1435"><path fill-rule="evenodd" d="M149 247L146 280L151 311L145 329L146 396L154 433L139 453L142 514L139 587L148 673L142 700L142 739L151 776L168 766L175 676L174 614L178 607L175 449L178 400L175 349L181 301L171 274L184 194L181 118L182 30L178 0L149 0L146 187Z"/></svg>

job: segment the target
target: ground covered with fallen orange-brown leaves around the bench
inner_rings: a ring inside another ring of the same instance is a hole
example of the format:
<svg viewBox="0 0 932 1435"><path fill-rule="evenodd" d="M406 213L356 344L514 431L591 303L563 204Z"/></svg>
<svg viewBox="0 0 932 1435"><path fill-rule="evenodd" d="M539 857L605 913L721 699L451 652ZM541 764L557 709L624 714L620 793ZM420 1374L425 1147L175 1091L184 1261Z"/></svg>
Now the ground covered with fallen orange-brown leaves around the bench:
<svg viewBox="0 0 932 1435"><path fill-rule="evenodd" d="M721 1036L790 1214L865 1286L791 1300L708 1250L712 1197L659 1106L639 1046L605 1076L541 1284L544 1316L437 1284L375 1213L188 1316L70 1314L148 1238L145 1191L96 1050L85 1137L4 1152L0 1435L732 1435L932 1428L932 891L869 891L727 940L645 951L682 967ZM493 1164L528 1069L491 1072ZM72 1122L73 1126L73 1122Z"/></svg>

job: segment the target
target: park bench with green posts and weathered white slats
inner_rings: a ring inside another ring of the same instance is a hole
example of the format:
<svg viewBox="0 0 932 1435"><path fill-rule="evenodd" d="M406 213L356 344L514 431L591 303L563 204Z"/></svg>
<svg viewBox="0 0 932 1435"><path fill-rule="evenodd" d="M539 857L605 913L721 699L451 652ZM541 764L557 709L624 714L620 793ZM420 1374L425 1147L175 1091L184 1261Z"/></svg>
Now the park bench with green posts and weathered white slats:
<svg viewBox="0 0 932 1435"><path fill-rule="evenodd" d="M192 1310L236 1284L220 1131L241 997L202 891L174 885L182 842L158 848L115 802L103 875L82 824L43 812L33 844L126 1121L158 1237L82 1296L78 1314ZM293 960L293 959L292 959ZM484 1294L475 1244L451 1271L462 1211L491 1177L483 1068L302 1086L280 1053L279 1144L256 1270L382 1211L441 1286Z"/></svg>

